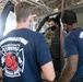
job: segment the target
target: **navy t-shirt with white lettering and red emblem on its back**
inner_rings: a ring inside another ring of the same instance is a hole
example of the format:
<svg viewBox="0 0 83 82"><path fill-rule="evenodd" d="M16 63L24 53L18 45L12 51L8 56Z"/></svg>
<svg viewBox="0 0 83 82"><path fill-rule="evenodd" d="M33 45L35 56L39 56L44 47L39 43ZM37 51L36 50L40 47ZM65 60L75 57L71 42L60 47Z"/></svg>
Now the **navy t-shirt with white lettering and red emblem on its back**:
<svg viewBox="0 0 83 82"><path fill-rule="evenodd" d="M3 82L37 82L51 56L42 34L21 28L0 39L0 60Z"/></svg>

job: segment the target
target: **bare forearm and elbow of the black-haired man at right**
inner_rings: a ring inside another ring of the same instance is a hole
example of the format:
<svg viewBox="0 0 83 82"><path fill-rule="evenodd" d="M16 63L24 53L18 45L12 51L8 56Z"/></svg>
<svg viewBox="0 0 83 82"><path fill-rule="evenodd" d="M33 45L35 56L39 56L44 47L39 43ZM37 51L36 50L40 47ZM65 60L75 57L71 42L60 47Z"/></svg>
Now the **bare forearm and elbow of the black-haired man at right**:
<svg viewBox="0 0 83 82"><path fill-rule="evenodd" d="M59 82L69 82L73 78L78 68L78 61L79 55L73 55L66 58L66 65L61 72Z"/></svg>

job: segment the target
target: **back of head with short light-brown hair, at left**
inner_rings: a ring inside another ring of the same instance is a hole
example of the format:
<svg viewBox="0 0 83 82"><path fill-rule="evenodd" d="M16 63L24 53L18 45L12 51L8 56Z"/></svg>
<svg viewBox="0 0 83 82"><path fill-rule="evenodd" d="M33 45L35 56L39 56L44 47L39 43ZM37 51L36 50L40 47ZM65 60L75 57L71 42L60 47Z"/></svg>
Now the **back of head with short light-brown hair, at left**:
<svg viewBox="0 0 83 82"><path fill-rule="evenodd" d="M17 22L25 22L29 15L33 14L32 4L21 1L15 7L15 15Z"/></svg>

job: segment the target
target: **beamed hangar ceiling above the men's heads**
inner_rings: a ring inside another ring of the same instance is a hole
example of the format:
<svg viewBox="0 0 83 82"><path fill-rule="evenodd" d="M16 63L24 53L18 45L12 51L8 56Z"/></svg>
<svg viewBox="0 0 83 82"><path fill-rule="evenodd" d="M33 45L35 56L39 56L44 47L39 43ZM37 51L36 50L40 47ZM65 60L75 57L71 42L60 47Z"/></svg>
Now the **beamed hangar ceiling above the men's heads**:
<svg viewBox="0 0 83 82"><path fill-rule="evenodd" d="M8 1L16 4L20 1L27 1L34 5L34 12L38 16L50 14L61 9L61 0L0 0L0 14ZM64 8L83 2L83 0L63 0Z"/></svg>

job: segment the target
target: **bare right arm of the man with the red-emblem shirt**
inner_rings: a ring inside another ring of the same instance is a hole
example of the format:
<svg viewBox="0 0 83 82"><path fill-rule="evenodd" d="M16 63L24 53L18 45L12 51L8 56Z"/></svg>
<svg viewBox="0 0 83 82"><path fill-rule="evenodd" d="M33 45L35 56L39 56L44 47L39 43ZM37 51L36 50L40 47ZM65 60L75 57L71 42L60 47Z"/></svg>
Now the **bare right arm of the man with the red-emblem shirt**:
<svg viewBox="0 0 83 82"><path fill-rule="evenodd" d="M46 79L50 82L52 82L55 80L56 74L55 74L52 61L50 61L42 67L42 73L43 73L44 79Z"/></svg>

